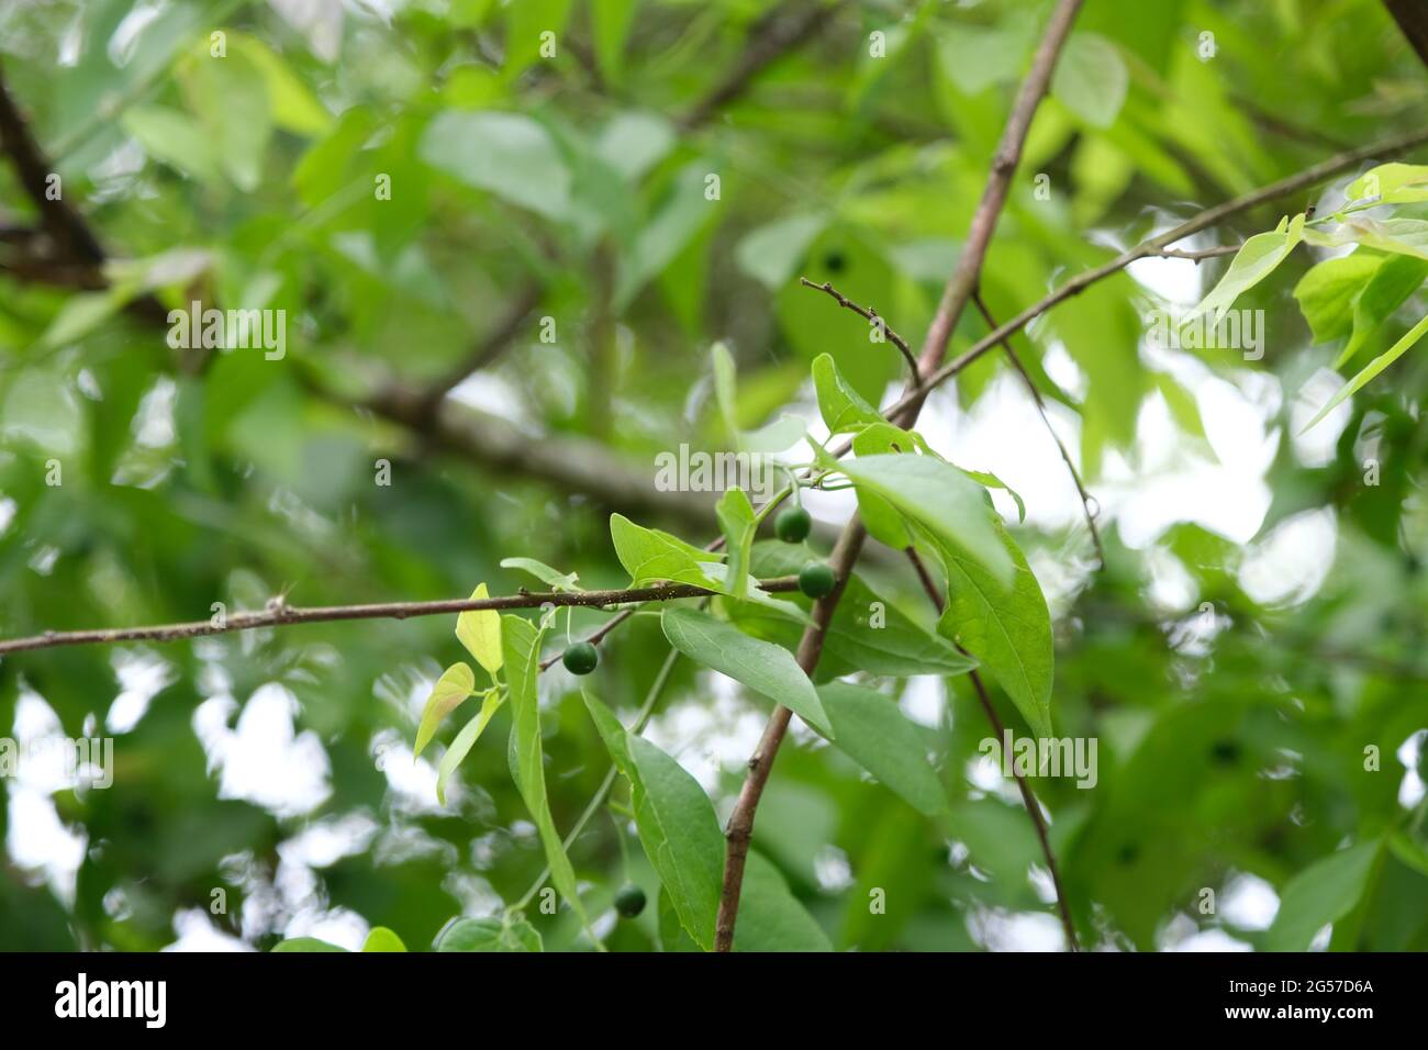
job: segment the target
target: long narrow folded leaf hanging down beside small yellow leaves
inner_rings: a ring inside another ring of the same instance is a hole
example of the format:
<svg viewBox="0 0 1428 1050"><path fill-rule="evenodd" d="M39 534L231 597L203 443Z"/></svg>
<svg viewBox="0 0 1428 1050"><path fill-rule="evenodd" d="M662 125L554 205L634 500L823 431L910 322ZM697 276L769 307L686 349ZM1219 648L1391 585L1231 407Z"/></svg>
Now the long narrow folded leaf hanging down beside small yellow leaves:
<svg viewBox="0 0 1428 1050"><path fill-rule="evenodd" d="M580 903L575 871L565 856L565 846L550 816L545 797L545 759L541 747L540 699L536 681L540 676L540 631L518 616L501 617L501 641L506 654L506 680L511 690L511 750L517 771L516 787L530 810L545 847L545 863L551 880L580 923L590 927Z"/></svg>

